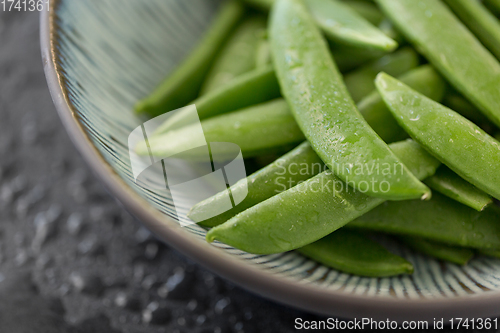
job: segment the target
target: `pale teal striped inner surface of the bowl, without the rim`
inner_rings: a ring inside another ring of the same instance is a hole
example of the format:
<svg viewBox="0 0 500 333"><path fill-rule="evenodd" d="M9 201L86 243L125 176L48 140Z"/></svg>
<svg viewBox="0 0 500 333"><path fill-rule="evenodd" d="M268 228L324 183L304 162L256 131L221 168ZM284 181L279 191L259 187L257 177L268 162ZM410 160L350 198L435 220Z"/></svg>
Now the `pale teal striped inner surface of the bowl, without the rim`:
<svg viewBox="0 0 500 333"><path fill-rule="evenodd" d="M218 3L60 0L53 17L56 62L63 89L89 140L137 195L175 221L184 217L177 216L169 192L146 190L134 181L128 136L146 119L134 115L132 107L185 57L205 31ZM184 230L196 241L205 241L204 229L189 225ZM344 274L295 252L262 256L220 243L214 246L276 279L347 294L436 299L500 289L500 260L485 257L459 267L393 244L395 252L415 265L415 274L377 279Z"/></svg>

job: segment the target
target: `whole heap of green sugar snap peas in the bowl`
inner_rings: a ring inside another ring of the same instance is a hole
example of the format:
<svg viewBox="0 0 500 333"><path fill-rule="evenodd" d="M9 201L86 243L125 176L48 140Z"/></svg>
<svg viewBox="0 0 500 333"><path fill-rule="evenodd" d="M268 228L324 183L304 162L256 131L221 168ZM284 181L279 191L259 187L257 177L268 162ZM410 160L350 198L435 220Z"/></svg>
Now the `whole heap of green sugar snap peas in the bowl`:
<svg viewBox="0 0 500 333"><path fill-rule="evenodd" d="M192 207L209 242L373 277L413 272L377 233L457 265L500 258L497 14L496 0L227 0L135 111L195 104L207 142L260 163L228 189L248 191L239 205L212 217L225 191ZM182 151L190 131L180 112L136 151Z"/></svg>

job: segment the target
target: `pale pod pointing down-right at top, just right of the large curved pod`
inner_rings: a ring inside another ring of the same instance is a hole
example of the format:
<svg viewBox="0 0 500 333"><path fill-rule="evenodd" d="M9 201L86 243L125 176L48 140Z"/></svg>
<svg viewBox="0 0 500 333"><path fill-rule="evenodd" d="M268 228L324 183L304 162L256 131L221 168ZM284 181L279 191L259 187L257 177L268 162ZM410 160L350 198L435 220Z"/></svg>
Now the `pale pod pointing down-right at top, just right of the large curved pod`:
<svg viewBox="0 0 500 333"><path fill-rule="evenodd" d="M246 0L260 9L270 10L276 0ZM346 45L393 51L398 43L387 37L356 11L337 0L304 0L305 11L310 11L319 28L328 39Z"/></svg>

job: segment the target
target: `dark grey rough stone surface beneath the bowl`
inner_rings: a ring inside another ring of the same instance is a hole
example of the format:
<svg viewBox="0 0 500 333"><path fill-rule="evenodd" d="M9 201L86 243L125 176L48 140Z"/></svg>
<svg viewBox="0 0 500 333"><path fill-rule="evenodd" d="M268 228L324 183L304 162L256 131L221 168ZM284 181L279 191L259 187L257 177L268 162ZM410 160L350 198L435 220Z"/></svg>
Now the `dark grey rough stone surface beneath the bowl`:
<svg viewBox="0 0 500 333"><path fill-rule="evenodd" d="M36 13L0 12L0 333L278 333L321 319L190 262L106 193L59 122L38 34Z"/></svg>

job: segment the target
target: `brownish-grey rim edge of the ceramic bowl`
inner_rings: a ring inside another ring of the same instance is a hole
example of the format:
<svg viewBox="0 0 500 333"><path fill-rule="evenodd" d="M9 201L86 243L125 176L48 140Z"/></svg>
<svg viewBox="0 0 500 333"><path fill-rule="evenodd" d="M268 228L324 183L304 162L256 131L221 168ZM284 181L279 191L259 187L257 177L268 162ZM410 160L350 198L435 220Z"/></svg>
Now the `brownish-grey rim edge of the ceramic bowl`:
<svg viewBox="0 0 500 333"><path fill-rule="evenodd" d="M500 292L440 299L397 299L353 295L271 275L228 253L200 242L172 219L150 207L129 188L104 160L77 119L57 65L58 34L55 13L62 0L50 0L50 11L40 13L42 61L52 100L71 141L93 171L122 205L161 240L212 272L266 299L326 316L379 320L428 320L500 315Z"/></svg>

